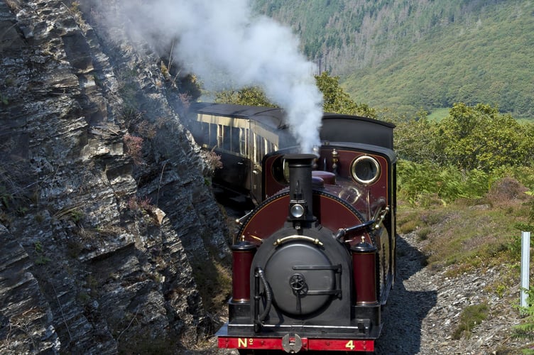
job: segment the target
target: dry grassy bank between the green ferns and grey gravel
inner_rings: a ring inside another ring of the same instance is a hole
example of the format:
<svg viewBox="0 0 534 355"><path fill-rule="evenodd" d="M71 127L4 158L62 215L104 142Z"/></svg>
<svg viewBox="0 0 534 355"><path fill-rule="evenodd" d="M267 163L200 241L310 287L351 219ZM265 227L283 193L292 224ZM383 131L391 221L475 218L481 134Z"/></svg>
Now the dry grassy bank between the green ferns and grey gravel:
<svg viewBox="0 0 534 355"><path fill-rule="evenodd" d="M429 267L448 267L453 277L478 268L516 266L521 257L516 224L528 221L527 199L528 195L506 199L494 194L426 208L401 203L398 231L415 231Z"/></svg>

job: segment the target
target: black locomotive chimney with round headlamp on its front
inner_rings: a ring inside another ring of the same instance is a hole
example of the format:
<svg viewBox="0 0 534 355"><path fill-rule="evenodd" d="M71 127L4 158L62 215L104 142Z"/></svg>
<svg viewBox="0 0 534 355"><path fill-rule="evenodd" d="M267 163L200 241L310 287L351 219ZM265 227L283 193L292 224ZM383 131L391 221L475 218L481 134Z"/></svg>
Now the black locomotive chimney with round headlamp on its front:
<svg viewBox="0 0 534 355"><path fill-rule="evenodd" d="M301 222L315 222L312 209L312 165L314 154L288 154L284 159L289 165L289 214L288 221L295 229Z"/></svg>

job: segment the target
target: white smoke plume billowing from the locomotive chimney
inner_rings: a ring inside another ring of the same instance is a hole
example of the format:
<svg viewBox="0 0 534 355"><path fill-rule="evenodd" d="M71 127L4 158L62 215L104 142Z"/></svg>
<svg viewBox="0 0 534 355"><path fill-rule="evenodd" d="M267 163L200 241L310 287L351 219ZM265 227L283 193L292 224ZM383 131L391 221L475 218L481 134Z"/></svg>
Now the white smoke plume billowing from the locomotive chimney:
<svg viewBox="0 0 534 355"><path fill-rule="evenodd" d="M133 28L151 33L160 43L178 38L173 58L207 88L217 88L222 77L234 88L261 87L287 112L303 153L320 144L322 94L315 85L314 65L299 53L298 38L289 28L253 16L247 0L125 3Z"/></svg>

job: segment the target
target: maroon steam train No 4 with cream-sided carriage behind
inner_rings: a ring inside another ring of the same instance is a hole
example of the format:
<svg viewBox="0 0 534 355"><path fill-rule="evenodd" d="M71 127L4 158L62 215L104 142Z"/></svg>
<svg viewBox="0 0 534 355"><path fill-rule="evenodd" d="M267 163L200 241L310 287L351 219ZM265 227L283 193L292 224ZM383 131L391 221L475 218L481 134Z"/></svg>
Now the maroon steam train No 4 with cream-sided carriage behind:
<svg viewBox="0 0 534 355"><path fill-rule="evenodd" d="M396 271L393 125L324 114L321 146L303 154L282 109L193 110L193 136L222 156L214 181L257 204L231 246L219 348L374 351Z"/></svg>

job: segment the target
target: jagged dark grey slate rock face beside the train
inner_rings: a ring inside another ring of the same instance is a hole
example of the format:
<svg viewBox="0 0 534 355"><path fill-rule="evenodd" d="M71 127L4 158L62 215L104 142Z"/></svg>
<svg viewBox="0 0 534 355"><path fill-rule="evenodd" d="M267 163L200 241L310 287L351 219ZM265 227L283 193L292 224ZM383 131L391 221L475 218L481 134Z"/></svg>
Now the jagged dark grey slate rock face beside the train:
<svg viewBox="0 0 534 355"><path fill-rule="evenodd" d="M178 352L227 227L158 55L76 5L0 0L0 353Z"/></svg>

